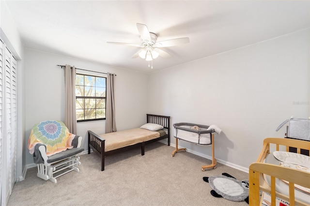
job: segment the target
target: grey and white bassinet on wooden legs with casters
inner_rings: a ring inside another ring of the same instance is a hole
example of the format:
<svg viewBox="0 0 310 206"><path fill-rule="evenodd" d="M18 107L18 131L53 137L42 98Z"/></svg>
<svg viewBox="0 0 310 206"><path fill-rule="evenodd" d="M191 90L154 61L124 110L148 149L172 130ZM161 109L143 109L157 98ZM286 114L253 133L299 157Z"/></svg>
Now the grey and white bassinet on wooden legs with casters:
<svg viewBox="0 0 310 206"><path fill-rule="evenodd" d="M216 125L201 125L192 123L175 123L174 137L175 149L171 152L171 157L174 157L178 151L186 151L186 148L178 148L178 140L184 140L196 145L212 146L212 163L202 166L202 171L208 168L215 168L217 160L214 157L214 133L220 134L222 132Z"/></svg>

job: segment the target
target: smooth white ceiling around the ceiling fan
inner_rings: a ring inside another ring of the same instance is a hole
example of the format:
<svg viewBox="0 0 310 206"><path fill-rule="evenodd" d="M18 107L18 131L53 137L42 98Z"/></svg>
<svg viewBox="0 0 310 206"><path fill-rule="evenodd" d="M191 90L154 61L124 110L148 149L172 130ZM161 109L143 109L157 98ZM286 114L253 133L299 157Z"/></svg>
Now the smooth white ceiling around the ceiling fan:
<svg viewBox="0 0 310 206"><path fill-rule="evenodd" d="M309 0L5 2L25 47L146 73L310 28ZM131 58L138 47L107 44L140 44L136 23L156 33L157 42L189 37L189 43L163 48L172 57L158 57L150 69Z"/></svg>

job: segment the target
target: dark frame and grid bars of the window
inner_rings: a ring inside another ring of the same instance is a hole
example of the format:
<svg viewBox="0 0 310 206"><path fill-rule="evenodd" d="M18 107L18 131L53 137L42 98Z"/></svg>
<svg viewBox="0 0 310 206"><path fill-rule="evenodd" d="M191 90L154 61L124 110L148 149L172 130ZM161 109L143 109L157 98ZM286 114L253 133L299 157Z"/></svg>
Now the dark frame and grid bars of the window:
<svg viewBox="0 0 310 206"><path fill-rule="evenodd" d="M77 96L76 95L76 101L78 100L78 99L83 99L84 100L84 106L85 106L85 99L95 99L95 100L97 100L97 99L104 99L104 102L105 102L105 115L107 114L107 77L106 76L99 76L99 75L92 75L92 74L83 74L83 73L76 73L76 77L77 77L77 75L83 75L84 76L84 83L83 83L83 87L88 87L88 86L85 86L85 76L92 76L92 77L100 77L100 78L105 78L105 93L106 93L106 95L105 95L105 97L95 97L95 96L85 96L85 94L84 94L84 96ZM75 86L79 86L79 85L76 85L76 83L75 83ZM94 86L94 88L96 88L95 86ZM76 90L75 90L76 91ZM76 105L77 105L77 102L76 102ZM96 108L94 108L94 109L96 109ZM76 107L76 111L77 111L78 109L77 109L77 107ZM77 122L88 122L88 121L99 121L99 120L106 120L106 117L107 116L105 116L105 118L93 118L93 119L85 119L85 110L86 110L86 108L83 108L83 110L84 110L84 119L79 119L78 120L78 117L77 117ZM77 114L76 114L76 116L77 116Z"/></svg>

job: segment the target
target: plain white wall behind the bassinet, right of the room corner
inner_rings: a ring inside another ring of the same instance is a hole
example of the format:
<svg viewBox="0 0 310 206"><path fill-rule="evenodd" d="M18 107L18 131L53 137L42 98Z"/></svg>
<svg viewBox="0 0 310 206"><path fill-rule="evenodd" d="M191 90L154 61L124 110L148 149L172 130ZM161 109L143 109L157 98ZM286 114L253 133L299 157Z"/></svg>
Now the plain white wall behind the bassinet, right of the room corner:
<svg viewBox="0 0 310 206"><path fill-rule="evenodd" d="M285 128L275 132L280 123L308 118L309 38L306 29L152 73L149 112L216 124L217 160L247 171L265 137L284 137ZM179 145L211 156L211 147Z"/></svg>

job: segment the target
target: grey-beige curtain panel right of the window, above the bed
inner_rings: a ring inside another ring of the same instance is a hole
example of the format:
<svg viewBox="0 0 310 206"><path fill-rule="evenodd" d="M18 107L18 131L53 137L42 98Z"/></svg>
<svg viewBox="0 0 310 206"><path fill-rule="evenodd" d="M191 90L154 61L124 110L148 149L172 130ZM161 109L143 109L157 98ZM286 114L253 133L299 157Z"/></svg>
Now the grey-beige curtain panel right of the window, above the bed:
<svg viewBox="0 0 310 206"><path fill-rule="evenodd" d="M115 104L114 104L115 74L108 73L107 104L106 104L106 133L116 132Z"/></svg>

